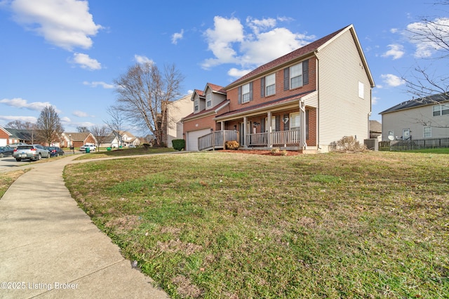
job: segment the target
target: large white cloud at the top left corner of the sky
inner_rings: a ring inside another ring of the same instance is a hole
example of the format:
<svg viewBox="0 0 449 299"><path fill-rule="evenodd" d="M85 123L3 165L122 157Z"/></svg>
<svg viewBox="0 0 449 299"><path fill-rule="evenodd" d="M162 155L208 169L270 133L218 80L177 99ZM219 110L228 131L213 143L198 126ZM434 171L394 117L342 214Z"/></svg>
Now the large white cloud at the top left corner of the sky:
<svg viewBox="0 0 449 299"><path fill-rule="evenodd" d="M50 44L72 51L91 48L101 25L93 22L88 1L13 0L14 19L26 29L43 36Z"/></svg>

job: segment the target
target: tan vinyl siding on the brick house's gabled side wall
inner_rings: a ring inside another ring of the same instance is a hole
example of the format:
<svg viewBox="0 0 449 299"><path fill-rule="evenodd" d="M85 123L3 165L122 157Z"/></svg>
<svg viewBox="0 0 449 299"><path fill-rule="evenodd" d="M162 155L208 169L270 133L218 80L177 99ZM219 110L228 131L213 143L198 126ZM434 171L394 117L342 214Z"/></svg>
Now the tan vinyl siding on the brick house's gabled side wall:
<svg viewBox="0 0 449 299"><path fill-rule="evenodd" d="M319 58L319 145L343 136L369 138L371 88L354 38L348 30L317 53ZM363 99L358 96L362 82Z"/></svg>

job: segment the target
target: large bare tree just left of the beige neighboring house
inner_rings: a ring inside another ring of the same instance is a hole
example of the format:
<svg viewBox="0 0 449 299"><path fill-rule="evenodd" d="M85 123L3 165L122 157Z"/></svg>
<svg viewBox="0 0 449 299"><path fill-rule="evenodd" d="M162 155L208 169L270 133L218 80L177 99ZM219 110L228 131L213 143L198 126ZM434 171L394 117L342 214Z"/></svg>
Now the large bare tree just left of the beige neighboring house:
<svg viewBox="0 0 449 299"><path fill-rule="evenodd" d="M180 97L184 76L174 65L163 72L154 63L136 64L114 81L118 94L116 109L133 126L150 131L161 145L166 130L167 105Z"/></svg>

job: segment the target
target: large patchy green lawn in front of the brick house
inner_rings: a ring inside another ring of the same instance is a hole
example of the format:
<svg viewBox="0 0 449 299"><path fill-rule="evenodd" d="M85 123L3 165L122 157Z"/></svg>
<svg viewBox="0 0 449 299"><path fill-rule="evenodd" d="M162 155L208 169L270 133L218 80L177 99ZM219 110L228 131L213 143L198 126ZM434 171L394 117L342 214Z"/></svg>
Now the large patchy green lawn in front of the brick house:
<svg viewBox="0 0 449 299"><path fill-rule="evenodd" d="M172 298L448 298L447 155L161 154L64 177Z"/></svg>

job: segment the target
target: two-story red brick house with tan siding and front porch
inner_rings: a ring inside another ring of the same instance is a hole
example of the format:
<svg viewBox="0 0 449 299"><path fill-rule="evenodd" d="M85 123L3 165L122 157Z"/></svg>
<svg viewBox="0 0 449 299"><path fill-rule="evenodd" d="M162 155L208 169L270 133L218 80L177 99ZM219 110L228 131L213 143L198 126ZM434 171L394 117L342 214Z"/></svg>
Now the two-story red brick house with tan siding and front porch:
<svg viewBox="0 0 449 299"><path fill-rule="evenodd" d="M303 152L328 152L349 135L363 142L374 86L349 25L224 88L195 91L194 112L182 119L186 150L202 150L199 140L211 131L238 132L243 147Z"/></svg>

